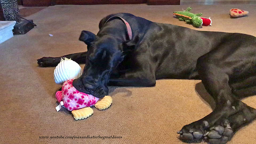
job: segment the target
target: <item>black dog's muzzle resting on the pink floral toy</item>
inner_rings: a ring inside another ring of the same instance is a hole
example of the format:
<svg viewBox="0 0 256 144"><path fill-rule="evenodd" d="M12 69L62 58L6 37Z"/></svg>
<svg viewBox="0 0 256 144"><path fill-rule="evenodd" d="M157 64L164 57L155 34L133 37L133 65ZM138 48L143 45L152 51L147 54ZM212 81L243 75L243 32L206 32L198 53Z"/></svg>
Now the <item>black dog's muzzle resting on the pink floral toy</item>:
<svg viewBox="0 0 256 144"><path fill-rule="evenodd" d="M82 80L75 79L73 81L73 86L79 91L84 92L86 94L91 94L96 98L103 98L108 95L108 87L107 86L92 86L90 84L83 84ZM90 88L88 88L90 87Z"/></svg>

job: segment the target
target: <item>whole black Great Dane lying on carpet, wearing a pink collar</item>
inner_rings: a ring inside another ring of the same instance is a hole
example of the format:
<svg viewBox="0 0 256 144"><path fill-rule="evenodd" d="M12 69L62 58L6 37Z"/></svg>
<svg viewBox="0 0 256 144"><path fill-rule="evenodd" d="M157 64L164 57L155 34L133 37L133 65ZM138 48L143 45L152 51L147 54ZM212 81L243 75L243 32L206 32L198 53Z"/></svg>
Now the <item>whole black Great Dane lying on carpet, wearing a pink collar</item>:
<svg viewBox="0 0 256 144"><path fill-rule="evenodd" d="M87 45L87 52L65 56L85 63L82 76L73 82L80 92L102 98L108 85L154 86L156 80L166 78L202 80L218 107L178 131L186 142L224 144L256 118L256 109L241 101L256 94L256 37L197 31L127 13L106 16L99 28L97 35L82 31L79 40ZM43 57L38 64L57 66L60 59Z"/></svg>

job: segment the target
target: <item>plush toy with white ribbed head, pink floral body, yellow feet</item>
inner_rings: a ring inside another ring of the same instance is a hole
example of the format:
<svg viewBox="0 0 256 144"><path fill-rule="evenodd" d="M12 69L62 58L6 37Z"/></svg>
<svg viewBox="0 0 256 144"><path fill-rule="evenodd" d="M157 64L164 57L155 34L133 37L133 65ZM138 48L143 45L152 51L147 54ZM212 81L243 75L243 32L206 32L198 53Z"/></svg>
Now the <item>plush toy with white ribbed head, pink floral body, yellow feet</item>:
<svg viewBox="0 0 256 144"><path fill-rule="evenodd" d="M84 119L93 114L90 106L95 106L98 110L105 110L112 104L112 98L105 96L101 100L90 94L79 92L73 86L73 80L82 75L82 69L71 59L62 58L54 70L54 80L57 84L62 84L62 90L56 92L56 99L60 103L56 110L63 106L72 111L76 120Z"/></svg>

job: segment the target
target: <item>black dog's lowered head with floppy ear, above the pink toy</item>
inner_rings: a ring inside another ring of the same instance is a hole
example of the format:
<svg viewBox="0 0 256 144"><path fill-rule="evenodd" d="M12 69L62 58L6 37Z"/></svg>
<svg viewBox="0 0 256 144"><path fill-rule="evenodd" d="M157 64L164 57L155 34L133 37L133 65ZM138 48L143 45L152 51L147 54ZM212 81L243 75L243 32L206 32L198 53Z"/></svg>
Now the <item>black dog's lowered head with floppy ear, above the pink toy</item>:
<svg viewBox="0 0 256 144"><path fill-rule="evenodd" d="M80 92L102 98L108 94L110 74L122 62L123 44L112 36L98 37L92 32L82 31L79 40L87 44L87 57L82 76L73 86Z"/></svg>

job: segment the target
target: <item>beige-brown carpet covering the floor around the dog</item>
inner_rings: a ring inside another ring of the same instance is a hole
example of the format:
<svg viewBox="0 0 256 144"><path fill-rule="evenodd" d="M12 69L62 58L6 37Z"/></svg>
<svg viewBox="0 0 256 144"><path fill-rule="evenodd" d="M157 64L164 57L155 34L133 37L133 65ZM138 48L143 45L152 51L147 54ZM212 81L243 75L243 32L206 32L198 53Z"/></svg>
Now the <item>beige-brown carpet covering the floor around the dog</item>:
<svg viewBox="0 0 256 144"><path fill-rule="evenodd" d="M0 44L0 133L2 144L182 144L176 132L214 108L200 80L158 80L152 88L110 87L112 106L93 108L86 120L75 121L64 109L56 112L54 68L40 68L36 59L86 51L78 41L82 30L98 32L98 22L116 12L130 12L154 22L194 28L173 18L188 6L104 5L50 6L28 16L38 26ZM241 32L256 36L256 5L192 6L191 12L211 17L211 27L198 30ZM230 19L230 8L249 16ZM50 37L48 34L52 34ZM84 65L81 65L84 67ZM256 108L256 97L243 100ZM209 102L209 104L208 104ZM242 128L228 144L255 144L256 122ZM119 139L42 139L40 136L122 136Z"/></svg>

